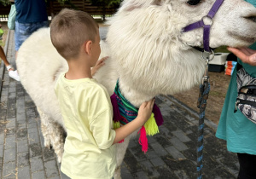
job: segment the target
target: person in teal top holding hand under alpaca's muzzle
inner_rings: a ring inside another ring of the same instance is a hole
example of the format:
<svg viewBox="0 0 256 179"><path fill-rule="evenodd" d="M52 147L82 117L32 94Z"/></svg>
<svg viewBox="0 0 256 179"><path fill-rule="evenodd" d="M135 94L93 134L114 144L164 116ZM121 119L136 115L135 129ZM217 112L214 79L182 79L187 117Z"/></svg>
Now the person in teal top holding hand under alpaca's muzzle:
<svg viewBox="0 0 256 179"><path fill-rule="evenodd" d="M256 7L255 0L247 0ZM234 53L244 69L256 78L256 43L249 48L228 48ZM227 142L228 151L237 153L240 164L239 179L256 178L256 124L237 110L234 113L237 96L236 69L230 79L230 86L224 101L216 136Z"/></svg>

